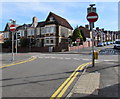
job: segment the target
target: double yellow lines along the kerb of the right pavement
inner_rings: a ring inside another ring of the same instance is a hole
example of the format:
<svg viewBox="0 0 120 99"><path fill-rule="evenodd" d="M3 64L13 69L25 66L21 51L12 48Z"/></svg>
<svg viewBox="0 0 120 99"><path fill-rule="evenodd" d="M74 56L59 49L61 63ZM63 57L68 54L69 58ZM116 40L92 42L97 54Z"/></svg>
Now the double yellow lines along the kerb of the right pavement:
<svg viewBox="0 0 120 99"><path fill-rule="evenodd" d="M78 70L82 71L84 69L85 66L90 65L91 62L86 63L86 64L82 64L80 66L78 66L78 68L66 79L66 81L55 91L55 93L50 97L50 99L60 99L63 94L66 92L66 90L68 89L68 87L71 85L71 83L74 81L74 79L76 78L76 76L79 74L79 72L77 72Z"/></svg>

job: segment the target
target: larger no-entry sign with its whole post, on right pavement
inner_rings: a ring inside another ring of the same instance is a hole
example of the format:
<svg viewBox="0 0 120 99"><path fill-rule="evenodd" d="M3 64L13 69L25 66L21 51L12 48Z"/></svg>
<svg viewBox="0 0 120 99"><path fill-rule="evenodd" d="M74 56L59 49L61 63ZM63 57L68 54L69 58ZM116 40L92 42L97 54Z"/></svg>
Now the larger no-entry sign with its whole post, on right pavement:
<svg viewBox="0 0 120 99"><path fill-rule="evenodd" d="M96 22L98 20L98 14L96 13L96 8L93 7L95 6L95 4L91 4L91 7L87 8L87 20L89 21L90 24L90 30L92 32L92 67L94 67L95 65L95 60L94 60L94 32L93 32L93 28L94 28L94 22Z"/></svg>

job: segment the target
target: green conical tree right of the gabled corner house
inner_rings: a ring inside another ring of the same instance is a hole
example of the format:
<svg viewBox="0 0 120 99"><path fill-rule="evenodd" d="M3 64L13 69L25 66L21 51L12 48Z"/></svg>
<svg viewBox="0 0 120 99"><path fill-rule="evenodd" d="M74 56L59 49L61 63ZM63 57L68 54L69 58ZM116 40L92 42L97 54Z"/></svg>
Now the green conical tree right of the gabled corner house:
<svg viewBox="0 0 120 99"><path fill-rule="evenodd" d="M81 35L80 29L78 28L78 26L73 31L72 41L75 42L77 38L80 38L80 40L83 41L83 37Z"/></svg>

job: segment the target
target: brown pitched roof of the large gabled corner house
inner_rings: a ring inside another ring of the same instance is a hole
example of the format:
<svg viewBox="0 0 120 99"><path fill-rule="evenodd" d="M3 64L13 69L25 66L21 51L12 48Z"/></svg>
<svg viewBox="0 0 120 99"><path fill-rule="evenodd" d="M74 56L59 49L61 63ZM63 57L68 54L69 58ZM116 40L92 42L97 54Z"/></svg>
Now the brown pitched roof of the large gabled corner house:
<svg viewBox="0 0 120 99"><path fill-rule="evenodd" d="M51 16L55 18L55 20L57 21L57 23L58 23L59 25L64 26L64 27L67 27L67 28L69 28L69 29L73 29L72 26L68 23L68 21L67 21L66 19L64 19L64 18L62 18L61 16L58 16L58 15L52 13L52 12L49 13L46 21L48 21L48 19L49 19Z"/></svg>

